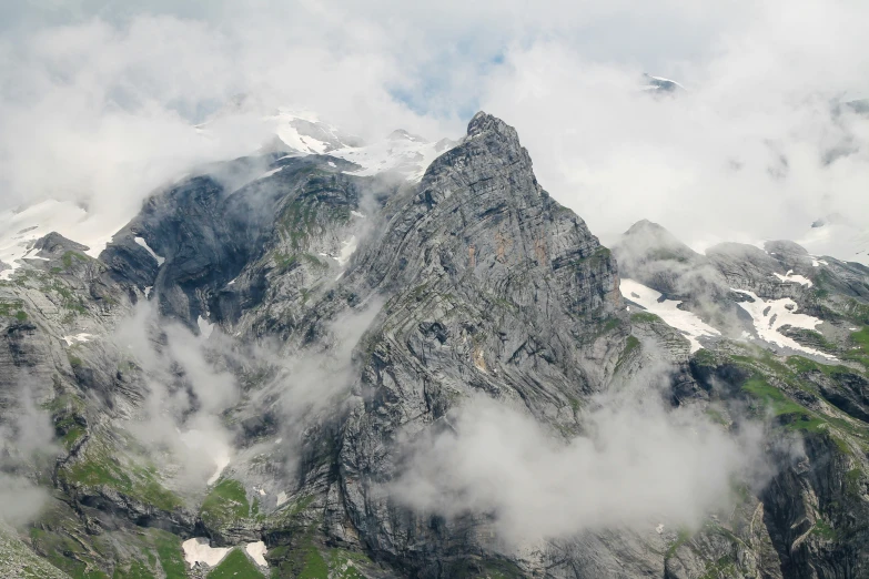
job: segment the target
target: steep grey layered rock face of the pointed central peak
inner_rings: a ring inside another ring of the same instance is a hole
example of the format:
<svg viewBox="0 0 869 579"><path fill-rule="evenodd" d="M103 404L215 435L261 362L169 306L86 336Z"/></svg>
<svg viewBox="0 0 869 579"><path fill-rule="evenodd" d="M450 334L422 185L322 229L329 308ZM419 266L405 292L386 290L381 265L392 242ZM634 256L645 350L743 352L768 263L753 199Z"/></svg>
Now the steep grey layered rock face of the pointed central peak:
<svg viewBox="0 0 869 579"><path fill-rule="evenodd" d="M475 394L576 430L575 402L606 387L627 319L608 250L542 190L498 119L477 114L465 141L390 209L347 276L387 301L342 430L341 494L368 548L449 575L445 556L482 551L485 525L396 510L378 488L396 474L396 440L437 428Z"/></svg>

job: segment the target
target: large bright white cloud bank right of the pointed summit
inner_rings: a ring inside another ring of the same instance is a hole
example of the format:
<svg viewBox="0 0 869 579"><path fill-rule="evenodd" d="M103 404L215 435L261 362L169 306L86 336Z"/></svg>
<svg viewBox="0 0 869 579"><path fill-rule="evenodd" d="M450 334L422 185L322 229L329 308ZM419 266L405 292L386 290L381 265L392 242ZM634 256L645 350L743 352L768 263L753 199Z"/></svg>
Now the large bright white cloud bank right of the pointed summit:
<svg viewBox="0 0 869 579"><path fill-rule="evenodd" d="M777 6L711 35L709 57L665 67L689 89L676 99L634 90L639 67L557 40L511 51L483 108L517 128L544 187L605 241L644 217L705 247L799 238L836 211L867 215L869 121L830 106L869 89L857 26L867 8ZM862 149L825 166L843 144Z"/></svg>

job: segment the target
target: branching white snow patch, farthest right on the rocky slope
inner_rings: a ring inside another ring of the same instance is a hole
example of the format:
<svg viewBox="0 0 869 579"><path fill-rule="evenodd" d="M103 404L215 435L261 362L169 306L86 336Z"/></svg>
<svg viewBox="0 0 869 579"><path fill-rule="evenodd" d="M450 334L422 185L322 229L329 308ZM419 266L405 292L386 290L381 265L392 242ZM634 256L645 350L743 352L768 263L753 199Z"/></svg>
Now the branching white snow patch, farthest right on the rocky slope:
<svg viewBox="0 0 869 579"><path fill-rule="evenodd" d="M758 337L784 348L796 349L798 352L805 352L806 354L822 356L828 359L836 359L835 356L802 346L794 338L789 338L786 335L779 333L779 328L782 326L815 331L817 326L823 323L817 317L812 317L806 314L797 314L796 312L799 306L794 299L789 297L782 297L781 299L764 301L754 292L749 292L747 290L736 290L732 287L731 290L754 299L754 302L738 302L738 304L739 307L745 309L751 316L751 319L755 323L755 332L757 333Z"/></svg>

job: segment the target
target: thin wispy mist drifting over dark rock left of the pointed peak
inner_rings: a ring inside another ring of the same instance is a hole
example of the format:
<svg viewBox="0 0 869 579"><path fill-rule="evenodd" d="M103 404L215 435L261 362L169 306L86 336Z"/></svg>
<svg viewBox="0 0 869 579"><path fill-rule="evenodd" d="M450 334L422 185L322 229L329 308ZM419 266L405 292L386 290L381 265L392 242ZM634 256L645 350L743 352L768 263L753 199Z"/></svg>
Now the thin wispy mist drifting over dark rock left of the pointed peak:
<svg viewBox="0 0 869 579"><path fill-rule="evenodd" d="M113 339L141 368L143 403L125 426L145 447L169 451L176 482L196 490L213 484L244 446L244 421L267 415L281 439L287 471L296 468L306 428L341 409L353 383L352 353L380 312L372 299L324 323L314 351L274 339L241 343L214 329L194 335L141 302ZM242 392L239 374L259 375ZM228 420L226 412L233 413ZM255 420L254 420L255 421Z"/></svg>

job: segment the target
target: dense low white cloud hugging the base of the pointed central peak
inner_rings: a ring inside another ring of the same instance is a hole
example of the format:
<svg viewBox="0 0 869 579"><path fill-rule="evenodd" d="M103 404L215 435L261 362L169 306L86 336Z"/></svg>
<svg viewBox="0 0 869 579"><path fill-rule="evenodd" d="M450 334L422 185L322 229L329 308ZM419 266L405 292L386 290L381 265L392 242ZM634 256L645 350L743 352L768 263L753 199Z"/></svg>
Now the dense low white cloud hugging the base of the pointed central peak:
<svg viewBox="0 0 869 579"><path fill-rule="evenodd" d="M437 434L407 443L390 485L414 509L485 514L514 546L584 530L697 526L756 478L759 431L734 436L696 408L666 408L654 385L592 400L584 436L565 440L525 413L474 398Z"/></svg>

